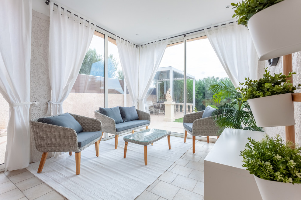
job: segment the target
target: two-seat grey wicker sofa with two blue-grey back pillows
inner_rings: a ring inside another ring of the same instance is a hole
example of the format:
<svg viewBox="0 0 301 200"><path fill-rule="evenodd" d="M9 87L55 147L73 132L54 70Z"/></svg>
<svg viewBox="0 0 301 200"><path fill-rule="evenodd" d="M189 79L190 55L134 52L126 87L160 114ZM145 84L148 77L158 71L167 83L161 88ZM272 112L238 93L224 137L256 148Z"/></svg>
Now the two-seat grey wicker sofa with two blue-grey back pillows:
<svg viewBox="0 0 301 200"><path fill-rule="evenodd" d="M119 112L120 108L120 112ZM95 118L102 122L102 131L115 135L115 149L118 146L118 135L146 127L151 123L151 116L147 112L135 109L132 107L116 106L114 108L99 108L102 110L95 110ZM121 112L123 115L121 115ZM118 115L119 114L119 115ZM121 116L120 116L121 115ZM133 116L135 115L135 116Z"/></svg>

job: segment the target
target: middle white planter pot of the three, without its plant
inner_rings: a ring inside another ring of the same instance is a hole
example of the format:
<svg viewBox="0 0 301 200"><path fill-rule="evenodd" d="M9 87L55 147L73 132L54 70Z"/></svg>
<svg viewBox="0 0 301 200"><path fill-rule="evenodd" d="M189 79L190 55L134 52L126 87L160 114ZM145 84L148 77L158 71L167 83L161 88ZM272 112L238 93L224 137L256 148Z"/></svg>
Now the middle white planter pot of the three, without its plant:
<svg viewBox="0 0 301 200"><path fill-rule="evenodd" d="M248 99L258 127L295 125L292 93Z"/></svg>

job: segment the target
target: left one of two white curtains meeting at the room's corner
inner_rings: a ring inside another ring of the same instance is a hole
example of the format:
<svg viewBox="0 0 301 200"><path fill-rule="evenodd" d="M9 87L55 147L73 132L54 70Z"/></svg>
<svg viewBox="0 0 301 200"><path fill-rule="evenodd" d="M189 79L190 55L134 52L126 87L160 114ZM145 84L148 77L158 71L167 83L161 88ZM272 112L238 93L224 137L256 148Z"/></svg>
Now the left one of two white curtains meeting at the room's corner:
<svg viewBox="0 0 301 200"><path fill-rule="evenodd" d="M117 35L116 44L124 80L133 100L133 105L137 108L139 95L139 48L135 44L117 37Z"/></svg>

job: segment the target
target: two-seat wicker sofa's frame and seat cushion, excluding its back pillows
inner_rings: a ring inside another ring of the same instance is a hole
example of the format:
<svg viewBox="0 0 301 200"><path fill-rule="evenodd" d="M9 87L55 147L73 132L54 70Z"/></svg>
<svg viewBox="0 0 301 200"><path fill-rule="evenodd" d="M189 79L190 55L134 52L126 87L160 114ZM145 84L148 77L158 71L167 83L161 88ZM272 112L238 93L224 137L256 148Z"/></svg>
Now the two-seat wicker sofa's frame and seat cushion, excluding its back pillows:
<svg viewBox="0 0 301 200"><path fill-rule="evenodd" d="M95 118L99 119L102 123L102 132L110 133L115 135L115 149L118 145L118 135L121 133L126 133L132 131L134 133L135 129L146 127L151 123L151 116L147 112L136 109L139 120L134 120L130 122L115 123L115 120L103 115L99 110L95 110Z"/></svg>

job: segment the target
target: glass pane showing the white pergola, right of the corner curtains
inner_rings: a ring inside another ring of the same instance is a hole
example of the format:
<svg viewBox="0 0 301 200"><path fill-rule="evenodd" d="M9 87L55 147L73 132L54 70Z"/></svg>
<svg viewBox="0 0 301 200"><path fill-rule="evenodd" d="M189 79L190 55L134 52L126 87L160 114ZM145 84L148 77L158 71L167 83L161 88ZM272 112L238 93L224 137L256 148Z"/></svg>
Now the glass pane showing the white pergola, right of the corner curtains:
<svg viewBox="0 0 301 200"><path fill-rule="evenodd" d="M147 104L151 114L152 128L183 133L183 95L184 95L184 42L167 45L162 61L149 90ZM166 120L166 93L171 88L170 95L175 102L172 121ZM164 119L165 118L165 119Z"/></svg>

